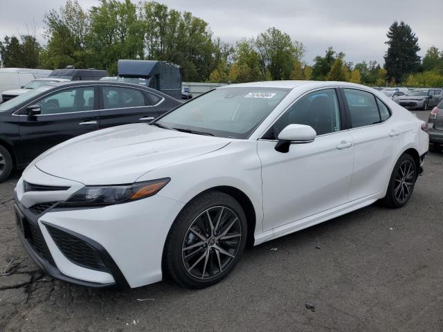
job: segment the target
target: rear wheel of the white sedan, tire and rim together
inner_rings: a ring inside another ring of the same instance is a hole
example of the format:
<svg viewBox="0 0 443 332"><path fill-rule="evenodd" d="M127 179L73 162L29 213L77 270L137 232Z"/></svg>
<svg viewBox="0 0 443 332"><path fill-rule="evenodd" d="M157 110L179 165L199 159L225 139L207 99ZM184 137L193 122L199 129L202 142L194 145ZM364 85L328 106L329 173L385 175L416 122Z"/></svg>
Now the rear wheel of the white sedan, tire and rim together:
<svg viewBox="0 0 443 332"><path fill-rule="evenodd" d="M390 176L383 203L389 208L401 208L412 196L417 181L417 165L409 154L403 154L395 164Z"/></svg>

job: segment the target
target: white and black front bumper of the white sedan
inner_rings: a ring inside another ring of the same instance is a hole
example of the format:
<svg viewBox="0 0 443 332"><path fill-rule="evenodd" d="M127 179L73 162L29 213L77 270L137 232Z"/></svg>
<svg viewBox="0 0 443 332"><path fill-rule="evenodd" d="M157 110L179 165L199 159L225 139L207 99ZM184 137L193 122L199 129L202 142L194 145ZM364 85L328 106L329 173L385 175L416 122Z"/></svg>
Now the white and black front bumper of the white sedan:
<svg viewBox="0 0 443 332"><path fill-rule="evenodd" d="M42 179L34 178L33 173L42 176L27 170L23 178L29 183L42 183ZM24 192L23 178L16 187L17 211L24 215L33 230L41 234L41 238L33 241L18 227L19 238L30 257L46 273L66 282L91 287L117 285L134 288L162 279L164 243L183 203L156 194L104 208L68 210L57 208L55 202L35 214L35 201L47 201L48 198L55 201L57 192ZM66 185L64 179L53 177L53 180L57 183L49 182L51 185ZM60 234L62 240L64 237L69 240L66 246L60 242ZM85 258L84 250L78 252L79 247L93 252L91 255L98 263L92 266L89 261L84 263L82 259L89 258Z"/></svg>

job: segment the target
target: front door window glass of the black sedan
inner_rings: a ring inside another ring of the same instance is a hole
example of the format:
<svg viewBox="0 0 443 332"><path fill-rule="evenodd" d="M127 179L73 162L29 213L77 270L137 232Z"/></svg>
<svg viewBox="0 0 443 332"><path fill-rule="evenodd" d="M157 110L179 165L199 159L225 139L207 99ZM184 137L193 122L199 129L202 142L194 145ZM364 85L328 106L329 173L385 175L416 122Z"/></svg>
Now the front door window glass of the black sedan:
<svg viewBox="0 0 443 332"><path fill-rule="evenodd" d="M39 100L42 114L59 114L94 109L94 88L67 89Z"/></svg>

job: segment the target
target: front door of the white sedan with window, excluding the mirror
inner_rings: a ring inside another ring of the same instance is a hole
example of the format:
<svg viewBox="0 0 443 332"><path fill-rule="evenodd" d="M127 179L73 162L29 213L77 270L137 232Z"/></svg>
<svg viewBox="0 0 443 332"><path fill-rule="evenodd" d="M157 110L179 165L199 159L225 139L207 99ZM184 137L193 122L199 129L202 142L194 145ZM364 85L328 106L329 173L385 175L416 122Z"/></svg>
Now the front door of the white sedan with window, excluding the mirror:
<svg viewBox="0 0 443 332"><path fill-rule="evenodd" d="M342 123L336 89L323 89L298 100L258 141L264 231L347 203L354 151ZM288 124L307 124L317 137L287 153L275 151L275 138Z"/></svg>

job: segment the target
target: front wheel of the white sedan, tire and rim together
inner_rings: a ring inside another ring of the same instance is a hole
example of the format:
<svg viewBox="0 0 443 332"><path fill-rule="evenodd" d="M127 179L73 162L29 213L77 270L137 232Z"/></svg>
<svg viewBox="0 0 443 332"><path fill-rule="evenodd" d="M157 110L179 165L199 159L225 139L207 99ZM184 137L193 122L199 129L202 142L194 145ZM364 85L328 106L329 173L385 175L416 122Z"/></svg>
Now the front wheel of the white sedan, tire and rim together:
<svg viewBox="0 0 443 332"><path fill-rule="evenodd" d="M164 272L188 288L216 284L242 255L247 231L246 215L233 197L218 191L201 194L181 210L170 229Z"/></svg>

